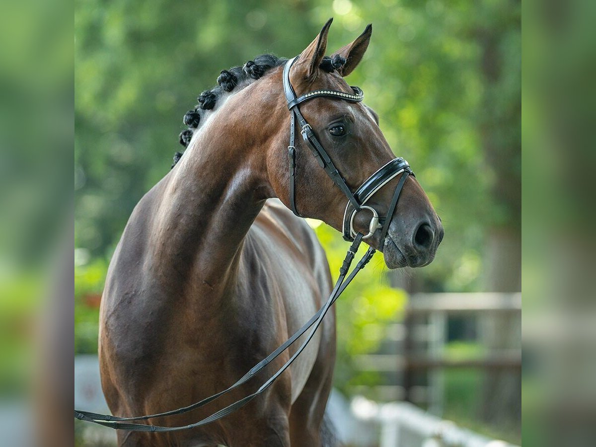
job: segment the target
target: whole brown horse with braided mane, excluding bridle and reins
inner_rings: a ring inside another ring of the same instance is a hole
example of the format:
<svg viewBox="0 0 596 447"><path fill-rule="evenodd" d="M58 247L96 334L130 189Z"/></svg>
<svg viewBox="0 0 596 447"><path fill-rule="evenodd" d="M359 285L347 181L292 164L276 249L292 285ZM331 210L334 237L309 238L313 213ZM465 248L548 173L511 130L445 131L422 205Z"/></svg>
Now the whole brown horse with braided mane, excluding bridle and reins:
<svg viewBox="0 0 596 447"><path fill-rule="evenodd" d="M332 284L325 252L290 209L342 231L346 198L306 139L291 144L296 190L288 184L282 78L287 67L297 94L355 96L357 90L343 77L361 61L372 26L327 57L330 24L291 67L265 55L222 71L219 85L203 92L198 107L185 115L189 128L181 142L187 148L136 204L107 272L98 352L112 414L155 414L225 389L327 299ZM300 111L350 191L394 159L377 115L364 103L323 95L303 103ZM424 266L434 258L443 228L414 176L403 172L390 179L368 204L389 210L401 178L401 197L386 231L372 227L361 212L352 215L351 228L368 235L365 241L383 252L389 268ZM331 311L290 369L238 411L179 432L119 430L118 444L334 445L325 406L335 328ZM257 378L203 408L150 422L173 426L200 420L253 392L294 352L292 345Z"/></svg>

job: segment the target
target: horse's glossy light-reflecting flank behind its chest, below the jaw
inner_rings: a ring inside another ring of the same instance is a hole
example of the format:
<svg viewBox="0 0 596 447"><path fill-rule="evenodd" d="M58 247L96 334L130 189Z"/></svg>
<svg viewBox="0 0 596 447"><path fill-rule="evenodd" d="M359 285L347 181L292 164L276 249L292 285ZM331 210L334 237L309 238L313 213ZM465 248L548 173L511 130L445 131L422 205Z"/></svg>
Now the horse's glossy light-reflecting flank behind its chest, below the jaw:
<svg viewBox="0 0 596 447"><path fill-rule="evenodd" d="M298 330L327 300L331 290L331 275L327 257L315 232L303 219L297 218L278 200L268 200L249 232L249 249L259 262L268 266L266 275L275 281L272 287L277 306L283 311L284 342ZM334 352L335 320L331 311L323 321L305 351L291 366L292 401L302 391L315 364L333 362L327 353ZM290 354L305 340L300 337L290 348Z"/></svg>

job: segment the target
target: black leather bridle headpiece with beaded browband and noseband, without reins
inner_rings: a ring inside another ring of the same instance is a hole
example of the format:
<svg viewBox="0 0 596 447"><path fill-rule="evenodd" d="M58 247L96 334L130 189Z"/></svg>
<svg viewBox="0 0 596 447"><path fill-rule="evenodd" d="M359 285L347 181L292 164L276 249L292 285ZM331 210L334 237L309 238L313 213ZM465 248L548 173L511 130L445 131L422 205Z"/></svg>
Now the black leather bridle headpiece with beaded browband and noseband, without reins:
<svg viewBox="0 0 596 447"><path fill-rule="evenodd" d="M361 210L368 210L372 213L372 218L368 226L368 234L364 235L362 239L370 238L378 228L381 228L380 244L383 244L387 231L389 230L389 222L391 216L395 211L395 207L398 204L399 194L402 191L403 184L408 178L408 175L414 175L408 162L398 157L385 164L383 167L373 173L362 185L352 193L350 187L347 185L346 180L342 177L339 170L334 166L331 161L331 157L327 154L325 149L322 147L319 140L316 138L315 133L312 131L311 125L306 121L305 117L300 112L299 104L305 103L306 101L314 98L335 98L350 103L360 103L364 99L364 93L358 87L352 87L353 93L340 92L336 90L315 90L308 92L300 97L296 96L293 86L290 82L290 69L294 62L298 60L299 56L293 57L287 61L284 67L283 80L284 80L284 93L285 99L288 103L288 109L290 110L290 145L288 145L288 159L290 167L290 206L292 212L299 217L304 217L296 209L296 121L299 123L300 134L304 139L306 146L311 150L316 161L319 163L327 175L330 176L331 180L342 190L347 197L346 211L343 215L343 238L346 241L353 241L356 237L356 230L354 229L354 218L356 214ZM377 210L371 206L367 206L367 201L373 197L373 195L380 190L390 180L403 173L401 179L399 179L398 185L393 193L393 199L390 203L389 209L384 219L380 219Z"/></svg>

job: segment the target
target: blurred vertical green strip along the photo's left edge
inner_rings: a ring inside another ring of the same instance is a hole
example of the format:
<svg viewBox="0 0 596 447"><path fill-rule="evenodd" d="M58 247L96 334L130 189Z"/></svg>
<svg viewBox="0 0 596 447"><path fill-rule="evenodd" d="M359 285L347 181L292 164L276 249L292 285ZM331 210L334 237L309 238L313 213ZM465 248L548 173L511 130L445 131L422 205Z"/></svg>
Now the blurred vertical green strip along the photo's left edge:
<svg viewBox="0 0 596 447"><path fill-rule="evenodd" d="M72 445L73 20L0 7L0 445Z"/></svg>

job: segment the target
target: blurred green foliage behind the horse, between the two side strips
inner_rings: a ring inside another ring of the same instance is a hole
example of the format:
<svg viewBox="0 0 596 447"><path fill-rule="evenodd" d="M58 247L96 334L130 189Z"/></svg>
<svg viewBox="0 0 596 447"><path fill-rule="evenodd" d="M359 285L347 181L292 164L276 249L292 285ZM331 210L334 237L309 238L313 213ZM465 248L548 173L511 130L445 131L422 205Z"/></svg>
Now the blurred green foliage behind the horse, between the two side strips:
<svg viewBox="0 0 596 447"><path fill-rule="evenodd" d="M298 54L332 16L328 52L373 23L371 45L347 82L364 90L387 141L414 167L445 226L432 265L387 272L376 255L337 302L335 386L350 395L355 386L383 380L359 371L353 358L375 352L410 294L520 290L519 1L79 0L75 6L76 353L97 352L111 254L132 208L181 150L182 116L197 95L215 85L222 69L257 54ZM336 275L346 244L326 225L316 232ZM449 374L454 404L446 414L474 424L478 373ZM498 434L519 442L519 432Z"/></svg>

